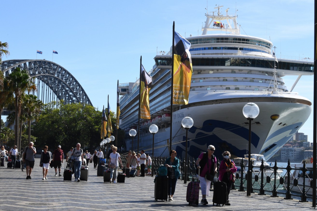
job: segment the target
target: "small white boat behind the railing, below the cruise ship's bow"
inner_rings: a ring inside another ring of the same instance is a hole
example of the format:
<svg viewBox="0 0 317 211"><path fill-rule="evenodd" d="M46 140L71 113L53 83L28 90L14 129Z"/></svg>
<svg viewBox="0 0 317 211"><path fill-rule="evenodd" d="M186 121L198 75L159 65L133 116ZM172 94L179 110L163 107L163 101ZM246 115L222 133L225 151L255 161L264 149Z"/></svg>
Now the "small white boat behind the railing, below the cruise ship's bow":
<svg viewBox="0 0 317 211"><path fill-rule="evenodd" d="M262 160L263 160L263 165L264 165L264 177L270 176L271 178L274 177L274 169L272 168L272 166L270 166L270 164L268 164L265 161L265 158L263 155L260 154L251 154L251 162L253 163L253 172L252 172L252 178L255 177L255 175L257 175L259 178L261 178L261 171L260 171L260 167L262 164ZM233 161L236 164L237 167L237 173L239 173L239 175L241 175L241 164L243 162L244 164L244 171L245 173L247 173L248 171L248 161L249 161L249 155L244 155L244 158L234 158ZM276 178L279 178L281 175L281 173L283 172L283 170L278 169L277 170L277 175Z"/></svg>

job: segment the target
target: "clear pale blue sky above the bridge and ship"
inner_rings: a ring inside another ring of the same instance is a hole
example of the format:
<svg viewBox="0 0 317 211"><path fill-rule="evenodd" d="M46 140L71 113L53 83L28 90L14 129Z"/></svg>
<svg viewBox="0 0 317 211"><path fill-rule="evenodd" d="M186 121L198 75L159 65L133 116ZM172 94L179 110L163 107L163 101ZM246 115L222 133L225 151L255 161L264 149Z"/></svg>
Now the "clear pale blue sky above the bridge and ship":
<svg viewBox="0 0 317 211"><path fill-rule="evenodd" d="M314 1L208 1L236 12L241 34L270 40L277 58L314 58ZM67 69L94 107L116 109L116 86L135 82L139 62L147 71L157 51L169 51L172 24L188 37L201 34L207 1L2 1L0 40L6 59L46 59ZM237 9L237 11L236 11ZM37 54L36 50L43 52ZM290 89L297 77L284 77ZM313 76L303 76L294 92L313 102ZM260 111L261 112L261 111ZM313 115L299 132L313 141Z"/></svg>

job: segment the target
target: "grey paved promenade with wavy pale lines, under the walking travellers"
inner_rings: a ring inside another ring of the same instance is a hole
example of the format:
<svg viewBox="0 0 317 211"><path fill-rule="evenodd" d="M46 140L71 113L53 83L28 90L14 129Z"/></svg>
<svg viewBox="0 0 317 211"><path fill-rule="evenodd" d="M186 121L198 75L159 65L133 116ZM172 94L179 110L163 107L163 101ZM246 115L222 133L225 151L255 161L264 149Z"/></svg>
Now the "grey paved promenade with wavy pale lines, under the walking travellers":
<svg viewBox="0 0 317 211"><path fill-rule="evenodd" d="M184 181L178 181L174 201L154 201L153 178L126 178L126 183L103 183L103 177L97 177L97 170L89 164L87 182L63 181L63 177L55 177L50 168L48 180L42 180L42 168L36 158L31 180L26 180L25 170L0 168L1 210L153 210L153 211L200 211L200 210L309 210L312 203L298 200L282 200L263 195L231 190L231 206L213 207L212 190L207 197L208 205L189 206L186 202ZM6 162L5 162L6 165ZM63 169L62 169L63 171ZM73 179L74 180L74 179ZM201 198L200 198L201 199Z"/></svg>

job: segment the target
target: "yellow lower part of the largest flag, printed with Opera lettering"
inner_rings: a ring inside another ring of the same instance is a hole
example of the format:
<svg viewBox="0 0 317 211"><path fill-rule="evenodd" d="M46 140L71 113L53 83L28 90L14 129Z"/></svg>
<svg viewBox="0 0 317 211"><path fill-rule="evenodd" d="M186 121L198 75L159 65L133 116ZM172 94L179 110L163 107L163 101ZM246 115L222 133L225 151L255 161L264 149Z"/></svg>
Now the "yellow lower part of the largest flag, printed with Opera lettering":
<svg viewBox="0 0 317 211"><path fill-rule="evenodd" d="M189 52L188 52L189 53ZM182 56L174 54L173 104L187 105L193 72L191 59L185 51Z"/></svg>

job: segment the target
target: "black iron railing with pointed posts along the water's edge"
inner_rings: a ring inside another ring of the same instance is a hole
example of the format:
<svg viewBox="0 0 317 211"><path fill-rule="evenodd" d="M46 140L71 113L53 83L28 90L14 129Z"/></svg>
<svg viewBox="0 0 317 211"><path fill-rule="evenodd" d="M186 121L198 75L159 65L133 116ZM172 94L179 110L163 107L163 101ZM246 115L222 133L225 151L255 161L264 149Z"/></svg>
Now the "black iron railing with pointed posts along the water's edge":
<svg viewBox="0 0 317 211"><path fill-rule="evenodd" d="M122 156L122 163L126 165L126 158ZM157 175L158 168L164 165L167 157L154 157L152 158L152 171L154 175ZM196 159L188 158L187 160L187 181L197 180L196 176ZM217 159L217 166L219 169L219 160ZM236 182L232 183L231 189L238 189L238 191L246 191L247 187L247 172L242 162L241 170L236 172ZM275 161L274 166L271 168L273 171L269 174L267 167L264 166L263 161L260 166L260 171L254 171L254 166L251 162L251 171L254 175L252 179L251 193L257 193L258 195L270 194L272 197L283 196L284 199L293 199L293 196L300 199L299 202L307 202L307 199L312 199L312 195L307 195L308 191L312 191L313 188L313 175L310 169L306 168L306 164L303 164L302 168L292 168L288 160L287 167L278 167ZM278 170L286 170L281 173ZM299 173L295 177L292 172L298 170ZM292 171L292 172L291 172ZM184 160L180 160L180 180L184 180ZM308 174L307 174L308 172ZM194 176L194 177L193 177ZM217 175L218 177L218 175ZM301 179L302 178L302 179ZM300 181L300 182L299 182ZM212 183L211 183L212 187ZM211 188L210 187L210 188Z"/></svg>

